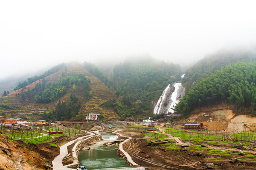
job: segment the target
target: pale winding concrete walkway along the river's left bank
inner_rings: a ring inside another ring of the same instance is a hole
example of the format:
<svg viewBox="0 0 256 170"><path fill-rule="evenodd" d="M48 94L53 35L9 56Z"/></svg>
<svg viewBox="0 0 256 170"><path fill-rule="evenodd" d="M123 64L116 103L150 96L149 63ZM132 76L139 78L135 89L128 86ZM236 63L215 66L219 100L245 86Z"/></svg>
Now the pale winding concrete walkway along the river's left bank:
<svg viewBox="0 0 256 170"><path fill-rule="evenodd" d="M95 135L94 133L91 133L90 135L87 135L87 136L78 137L77 139L62 145L60 147L60 154L57 157L55 157L55 159L53 160L53 170L73 170L72 168L64 167L64 165L62 164L62 160L68 154L67 146L73 144L74 142L76 142L76 140L81 140L84 137L88 138L88 137L94 136L94 135ZM76 143L78 143L78 142L76 142Z"/></svg>

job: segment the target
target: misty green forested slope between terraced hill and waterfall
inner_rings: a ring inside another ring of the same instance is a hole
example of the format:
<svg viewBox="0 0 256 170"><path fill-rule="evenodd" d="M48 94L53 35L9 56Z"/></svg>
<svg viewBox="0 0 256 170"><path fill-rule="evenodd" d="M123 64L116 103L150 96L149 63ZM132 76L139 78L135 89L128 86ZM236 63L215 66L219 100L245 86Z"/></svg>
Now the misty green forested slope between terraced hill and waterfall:
<svg viewBox="0 0 256 170"><path fill-rule="evenodd" d="M103 105L112 107L122 118L133 115L142 119L152 114L154 102L159 99L165 87L180 81L182 75L179 65L148 56L127 59L116 65L108 77L95 65L84 63L84 67L119 96Z"/></svg>

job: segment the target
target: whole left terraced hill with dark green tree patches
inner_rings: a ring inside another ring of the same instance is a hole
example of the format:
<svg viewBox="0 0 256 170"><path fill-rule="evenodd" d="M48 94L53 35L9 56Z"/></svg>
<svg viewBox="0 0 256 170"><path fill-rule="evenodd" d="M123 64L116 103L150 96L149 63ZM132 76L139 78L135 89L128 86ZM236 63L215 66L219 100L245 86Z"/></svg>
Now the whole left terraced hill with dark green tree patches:
<svg viewBox="0 0 256 170"><path fill-rule="evenodd" d="M79 120L89 113L117 119L119 116L114 110L100 106L115 97L97 77L81 65L73 65L0 98L0 112L27 120L55 120L56 115L57 120Z"/></svg>

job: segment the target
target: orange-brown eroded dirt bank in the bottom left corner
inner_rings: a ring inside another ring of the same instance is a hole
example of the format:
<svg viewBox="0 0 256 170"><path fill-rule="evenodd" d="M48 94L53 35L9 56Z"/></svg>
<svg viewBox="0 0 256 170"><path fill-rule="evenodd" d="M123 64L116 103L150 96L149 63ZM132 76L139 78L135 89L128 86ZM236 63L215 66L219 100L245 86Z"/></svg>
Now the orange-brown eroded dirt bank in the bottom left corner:
<svg viewBox="0 0 256 170"><path fill-rule="evenodd" d="M51 143L59 146L71 140L67 136L55 137ZM59 148L50 143L26 144L10 141L0 133L0 170L50 170ZM17 169L18 168L18 169Z"/></svg>

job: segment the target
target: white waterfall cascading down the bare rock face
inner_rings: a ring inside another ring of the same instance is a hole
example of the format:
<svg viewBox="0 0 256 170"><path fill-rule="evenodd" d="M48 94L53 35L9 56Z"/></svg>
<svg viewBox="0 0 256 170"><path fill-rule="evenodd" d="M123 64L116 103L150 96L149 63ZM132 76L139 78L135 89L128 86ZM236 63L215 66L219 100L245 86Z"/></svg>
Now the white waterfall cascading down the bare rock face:
<svg viewBox="0 0 256 170"><path fill-rule="evenodd" d="M184 77L185 74L181 76ZM160 96L156 103L154 114L168 114L174 113L174 106L179 102L185 93L185 88L181 83L174 83L173 85L167 85L163 94Z"/></svg>

